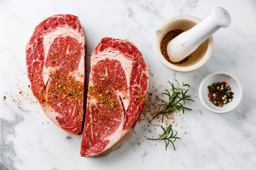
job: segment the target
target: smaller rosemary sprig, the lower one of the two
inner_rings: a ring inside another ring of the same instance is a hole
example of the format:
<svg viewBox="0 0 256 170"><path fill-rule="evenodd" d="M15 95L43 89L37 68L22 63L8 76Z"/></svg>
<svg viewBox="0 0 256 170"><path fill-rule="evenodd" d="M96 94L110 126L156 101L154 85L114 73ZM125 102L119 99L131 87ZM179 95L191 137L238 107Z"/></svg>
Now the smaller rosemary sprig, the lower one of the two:
<svg viewBox="0 0 256 170"><path fill-rule="evenodd" d="M157 139L149 139L149 140L164 140L164 142L166 143L166 150L167 150L167 147L168 147L169 143L172 143L172 146L175 150L174 142L176 141L176 139L180 139L179 137L176 137L177 131L175 130L175 135L174 135L173 130L172 130L172 125L170 125L167 128L167 130L165 130L163 128L163 126L161 126L161 128L163 129L164 133Z"/></svg>

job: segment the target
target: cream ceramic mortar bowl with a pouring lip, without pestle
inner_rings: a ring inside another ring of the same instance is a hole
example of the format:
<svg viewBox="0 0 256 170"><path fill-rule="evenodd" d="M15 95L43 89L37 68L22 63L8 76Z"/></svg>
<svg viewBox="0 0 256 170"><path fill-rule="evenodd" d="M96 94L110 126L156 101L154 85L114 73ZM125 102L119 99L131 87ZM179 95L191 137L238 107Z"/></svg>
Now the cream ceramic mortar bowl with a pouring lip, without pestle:
<svg viewBox="0 0 256 170"><path fill-rule="evenodd" d="M167 32L175 29L182 29L183 31L187 31L200 22L200 19L191 15L177 15L175 17L169 18L159 28L156 29L154 33L154 46L157 57L160 59L163 65L175 71L186 72L198 69L207 62L212 54L212 36L205 40L201 45L199 45L197 50L192 53L193 57L189 58L189 60L183 64L177 65L168 62L163 57L160 49L160 43Z"/></svg>

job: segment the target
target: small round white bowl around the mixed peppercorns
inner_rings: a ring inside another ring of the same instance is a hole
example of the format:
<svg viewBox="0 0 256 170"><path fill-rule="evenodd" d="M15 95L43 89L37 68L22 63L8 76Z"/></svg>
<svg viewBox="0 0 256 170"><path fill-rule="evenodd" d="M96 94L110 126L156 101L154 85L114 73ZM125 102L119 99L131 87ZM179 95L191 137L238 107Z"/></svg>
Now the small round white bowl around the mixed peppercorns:
<svg viewBox="0 0 256 170"><path fill-rule="evenodd" d="M213 103L209 100L209 91L207 88L209 85L212 85L212 83L220 81L226 82L228 85L230 85L231 91L234 93L232 101L226 105L223 105L222 107L213 105ZM227 113L232 111L237 105L239 105L242 96L243 90L238 79L225 71L217 71L209 74L207 77L204 77L199 86L199 98L202 104L205 108L215 113Z"/></svg>

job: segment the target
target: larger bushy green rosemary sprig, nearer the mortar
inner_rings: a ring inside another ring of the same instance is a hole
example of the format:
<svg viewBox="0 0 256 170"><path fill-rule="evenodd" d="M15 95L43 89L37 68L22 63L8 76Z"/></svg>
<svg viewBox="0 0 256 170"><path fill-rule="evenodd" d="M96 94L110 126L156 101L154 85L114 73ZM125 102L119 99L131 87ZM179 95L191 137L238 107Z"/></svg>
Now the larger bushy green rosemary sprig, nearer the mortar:
<svg viewBox="0 0 256 170"><path fill-rule="evenodd" d="M173 83L169 82L169 84L172 86L172 89L170 90L172 92L172 94L166 89L166 93L162 93L162 94L165 94L168 96L168 102L166 102L165 100L163 99L158 99L162 102L161 106L163 106L163 110L160 111L159 113L156 114L156 116L153 117L156 118L158 115L160 114L163 114L162 116L162 122L163 122L163 118L164 116L167 117L167 119L169 118L167 113L172 113L174 111L180 111L180 109L182 110L182 113L184 114L184 110L190 110L192 111L192 109L190 108L186 108L184 107L185 105L185 100L190 100L190 101L193 101L195 102L194 100L192 99L189 99L191 96L189 95L186 95L186 93L189 91L189 89L185 90L184 87L189 87L190 86L188 84L184 84L182 82L182 85L180 85L180 83L175 80L177 82L177 87L174 86ZM182 104L183 102L183 104Z"/></svg>

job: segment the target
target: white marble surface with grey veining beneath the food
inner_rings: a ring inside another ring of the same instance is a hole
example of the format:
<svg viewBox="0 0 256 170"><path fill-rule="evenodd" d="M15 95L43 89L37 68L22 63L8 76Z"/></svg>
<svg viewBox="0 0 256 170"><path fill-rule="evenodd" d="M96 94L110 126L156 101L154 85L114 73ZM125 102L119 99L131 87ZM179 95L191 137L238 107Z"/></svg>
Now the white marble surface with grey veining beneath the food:
<svg viewBox="0 0 256 170"><path fill-rule="evenodd" d="M226 8L232 23L214 35L209 61L189 73L164 67L154 51L153 33L157 26L178 14L204 19L215 6ZM68 136L33 103L36 100L25 75L26 42L45 17L66 13L77 15L84 27L87 61L101 38L128 39L143 53L154 74L150 77L151 86L167 87L167 80L173 79L191 85L195 103L188 103L193 111L176 117L174 128L181 137L175 142L176 151L171 147L165 151L161 141L146 140L144 136L157 136L160 129L144 127L144 122L137 124L137 134L108 156L80 157L81 136ZM0 16L1 170L256 169L255 0L1 0ZM212 113L196 97L201 80L213 71L228 71L240 80L244 97L235 111Z"/></svg>

